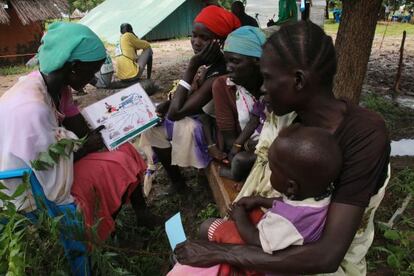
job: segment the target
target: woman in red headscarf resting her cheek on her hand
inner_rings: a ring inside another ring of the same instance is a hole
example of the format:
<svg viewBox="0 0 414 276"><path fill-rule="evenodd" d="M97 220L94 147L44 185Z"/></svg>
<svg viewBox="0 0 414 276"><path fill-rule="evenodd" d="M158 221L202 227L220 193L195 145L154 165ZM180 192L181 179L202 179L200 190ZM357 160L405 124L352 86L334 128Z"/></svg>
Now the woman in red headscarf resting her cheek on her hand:
<svg viewBox="0 0 414 276"><path fill-rule="evenodd" d="M210 162L203 125L197 118L204 113L214 114L212 85L226 73L220 48L238 27L239 19L218 6L208 6L197 15L191 36L194 56L171 100L157 107L158 116L165 118L163 125L141 136L140 146L147 152L152 147L176 190L185 188L178 167L205 168ZM150 155L147 157L151 160ZM149 165L151 169L151 161Z"/></svg>

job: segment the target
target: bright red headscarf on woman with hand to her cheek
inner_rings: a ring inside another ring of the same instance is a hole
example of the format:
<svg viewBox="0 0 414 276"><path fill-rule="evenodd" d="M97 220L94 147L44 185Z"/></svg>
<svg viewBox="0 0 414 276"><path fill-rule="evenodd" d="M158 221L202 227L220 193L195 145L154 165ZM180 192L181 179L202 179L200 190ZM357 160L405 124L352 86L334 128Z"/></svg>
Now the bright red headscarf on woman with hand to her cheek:
<svg viewBox="0 0 414 276"><path fill-rule="evenodd" d="M217 6L208 6L202 9L194 22L204 24L207 29L219 37L226 37L241 26L237 16Z"/></svg>

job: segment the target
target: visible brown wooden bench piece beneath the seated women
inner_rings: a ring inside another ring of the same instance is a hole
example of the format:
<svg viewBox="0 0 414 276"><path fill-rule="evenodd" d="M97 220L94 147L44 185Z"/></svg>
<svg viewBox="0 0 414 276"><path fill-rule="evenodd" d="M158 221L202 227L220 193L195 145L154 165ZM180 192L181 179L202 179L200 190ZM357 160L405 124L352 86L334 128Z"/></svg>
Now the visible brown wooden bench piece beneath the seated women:
<svg viewBox="0 0 414 276"><path fill-rule="evenodd" d="M227 214L228 207L239 193L237 190L238 182L220 177L219 164L217 162L211 162L206 168L206 174L214 200L216 201L220 214L224 216Z"/></svg>

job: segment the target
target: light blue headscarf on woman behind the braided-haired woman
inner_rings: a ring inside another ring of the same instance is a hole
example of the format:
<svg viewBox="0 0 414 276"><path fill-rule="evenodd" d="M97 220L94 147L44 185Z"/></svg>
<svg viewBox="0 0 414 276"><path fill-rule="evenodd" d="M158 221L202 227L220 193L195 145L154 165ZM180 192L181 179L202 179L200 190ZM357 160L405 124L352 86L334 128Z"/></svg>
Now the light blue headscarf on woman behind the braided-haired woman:
<svg viewBox="0 0 414 276"><path fill-rule="evenodd" d="M259 28L243 26L228 35L224 51L260 58L265 42L266 36Z"/></svg>

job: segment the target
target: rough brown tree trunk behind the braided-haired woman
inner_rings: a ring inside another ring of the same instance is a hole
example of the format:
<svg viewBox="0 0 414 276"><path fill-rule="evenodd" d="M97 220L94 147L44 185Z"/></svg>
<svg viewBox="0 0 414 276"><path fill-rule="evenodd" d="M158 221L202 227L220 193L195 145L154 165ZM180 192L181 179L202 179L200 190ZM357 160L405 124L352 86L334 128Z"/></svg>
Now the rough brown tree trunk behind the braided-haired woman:
<svg viewBox="0 0 414 276"><path fill-rule="evenodd" d="M371 54L372 41L382 0L345 0L335 48L338 72L334 93L359 102Z"/></svg>

